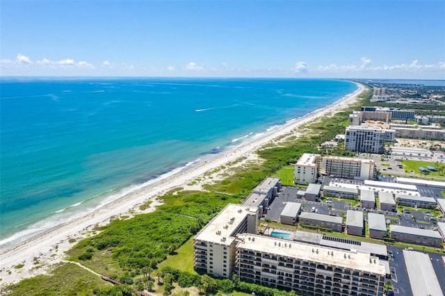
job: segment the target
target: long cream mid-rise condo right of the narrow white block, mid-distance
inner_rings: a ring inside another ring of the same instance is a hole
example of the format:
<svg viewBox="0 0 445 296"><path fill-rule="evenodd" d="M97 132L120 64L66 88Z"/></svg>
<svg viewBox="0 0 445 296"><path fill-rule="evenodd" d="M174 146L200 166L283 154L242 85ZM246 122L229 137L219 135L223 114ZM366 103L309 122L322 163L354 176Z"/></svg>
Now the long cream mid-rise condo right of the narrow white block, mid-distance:
<svg viewBox="0 0 445 296"><path fill-rule="evenodd" d="M328 156L323 157L321 172L346 179L376 179L377 167L372 159Z"/></svg>

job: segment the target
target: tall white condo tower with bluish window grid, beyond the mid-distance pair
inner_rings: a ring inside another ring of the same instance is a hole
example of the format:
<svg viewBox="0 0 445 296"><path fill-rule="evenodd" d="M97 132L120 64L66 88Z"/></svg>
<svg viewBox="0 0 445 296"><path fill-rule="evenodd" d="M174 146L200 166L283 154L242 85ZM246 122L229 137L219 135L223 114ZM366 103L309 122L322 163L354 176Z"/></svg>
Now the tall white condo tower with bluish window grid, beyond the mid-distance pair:
<svg viewBox="0 0 445 296"><path fill-rule="evenodd" d="M381 154L385 141L391 138L394 138L394 131L391 130L361 125L348 126L345 133L345 149Z"/></svg>

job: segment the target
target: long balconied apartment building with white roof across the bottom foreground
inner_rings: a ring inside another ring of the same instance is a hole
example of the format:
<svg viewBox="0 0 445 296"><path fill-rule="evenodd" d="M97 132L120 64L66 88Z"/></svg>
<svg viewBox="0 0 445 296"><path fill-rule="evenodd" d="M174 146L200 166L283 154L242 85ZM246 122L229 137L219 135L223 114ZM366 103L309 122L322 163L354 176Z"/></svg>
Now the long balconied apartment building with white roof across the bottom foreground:
<svg viewBox="0 0 445 296"><path fill-rule="evenodd" d="M241 281L302 295L381 295L385 264L369 252L238 235L235 273Z"/></svg>

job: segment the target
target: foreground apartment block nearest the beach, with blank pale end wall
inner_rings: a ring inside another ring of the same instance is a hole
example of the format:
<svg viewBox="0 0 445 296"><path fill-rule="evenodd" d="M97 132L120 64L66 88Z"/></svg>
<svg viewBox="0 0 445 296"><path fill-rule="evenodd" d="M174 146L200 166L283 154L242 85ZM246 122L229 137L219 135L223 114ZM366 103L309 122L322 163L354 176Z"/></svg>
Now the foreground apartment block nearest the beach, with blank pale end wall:
<svg viewBox="0 0 445 296"><path fill-rule="evenodd" d="M258 207L228 204L194 238L197 271L215 277L232 277L236 235L257 233Z"/></svg>

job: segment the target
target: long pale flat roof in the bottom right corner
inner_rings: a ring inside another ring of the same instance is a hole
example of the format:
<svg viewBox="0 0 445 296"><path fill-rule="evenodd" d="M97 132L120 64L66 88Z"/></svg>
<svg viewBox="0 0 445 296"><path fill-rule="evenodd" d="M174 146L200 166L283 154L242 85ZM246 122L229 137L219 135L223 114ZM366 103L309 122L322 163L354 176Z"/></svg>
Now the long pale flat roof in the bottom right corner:
<svg viewBox="0 0 445 296"><path fill-rule="evenodd" d="M403 250L403 258L412 295L444 296L428 254Z"/></svg>

